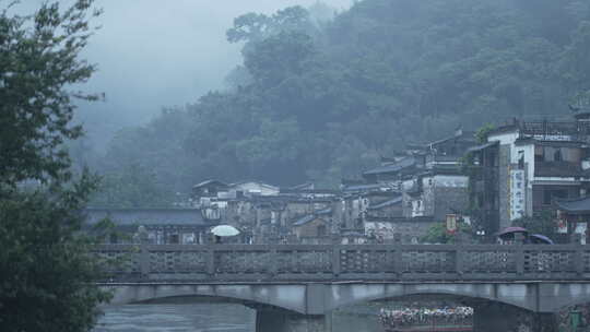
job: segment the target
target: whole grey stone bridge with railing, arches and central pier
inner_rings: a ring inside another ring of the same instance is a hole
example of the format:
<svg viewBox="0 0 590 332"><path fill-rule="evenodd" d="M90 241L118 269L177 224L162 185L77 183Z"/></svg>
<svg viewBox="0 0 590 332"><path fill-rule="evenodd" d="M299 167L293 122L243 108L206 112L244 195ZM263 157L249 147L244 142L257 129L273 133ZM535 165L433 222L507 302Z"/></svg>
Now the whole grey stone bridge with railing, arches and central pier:
<svg viewBox="0 0 590 332"><path fill-rule="evenodd" d="M541 322L590 303L590 246L579 245L107 245L96 253L109 262L102 284L114 304L236 301L258 310L259 332L330 331L332 310L378 299L450 297L475 307L479 331L489 304Z"/></svg>

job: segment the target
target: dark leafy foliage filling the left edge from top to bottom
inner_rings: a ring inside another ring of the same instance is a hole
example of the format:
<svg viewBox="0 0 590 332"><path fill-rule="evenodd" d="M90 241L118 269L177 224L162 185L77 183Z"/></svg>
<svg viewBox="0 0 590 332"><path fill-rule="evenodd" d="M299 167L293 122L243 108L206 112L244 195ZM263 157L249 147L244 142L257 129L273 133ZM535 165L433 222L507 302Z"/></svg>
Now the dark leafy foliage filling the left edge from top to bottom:
<svg viewBox="0 0 590 332"><path fill-rule="evenodd" d="M82 133L71 99L95 98L69 91L95 70L80 59L92 3L0 12L0 331L88 331L109 297L80 232L95 181L72 179L63 147Z"/></svg>

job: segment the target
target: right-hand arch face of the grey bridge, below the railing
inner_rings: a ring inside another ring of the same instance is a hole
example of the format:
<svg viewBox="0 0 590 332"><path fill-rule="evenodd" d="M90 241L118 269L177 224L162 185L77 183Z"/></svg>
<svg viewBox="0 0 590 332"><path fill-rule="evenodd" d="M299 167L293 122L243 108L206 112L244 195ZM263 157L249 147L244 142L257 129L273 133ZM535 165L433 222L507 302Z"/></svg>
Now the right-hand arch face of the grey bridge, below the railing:
<svg viewBox="0 0 590 332"><path fill-rule="evenodd" d="M536 289L527 284L346 284L329 285L331 294L327 310L380 299L413 296L449 296L455 298L484 299L538 311L534 300Z"/></svg>

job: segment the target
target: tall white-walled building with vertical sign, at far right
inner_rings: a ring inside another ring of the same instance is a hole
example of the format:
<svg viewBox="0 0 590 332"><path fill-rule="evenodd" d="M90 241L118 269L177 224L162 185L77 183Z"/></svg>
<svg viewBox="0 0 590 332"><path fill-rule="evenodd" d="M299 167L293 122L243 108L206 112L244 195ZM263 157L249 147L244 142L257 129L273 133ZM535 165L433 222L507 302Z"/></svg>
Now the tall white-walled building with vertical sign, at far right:
<svg viewBox="0 0 590 332"><path fill-rule="evenodd" d="M555 199L586 195L590 185L590 114L569 122L517 121L489 132L472 151L475 208L482 224L502 229L521 217L555 213Z"/></svg>

